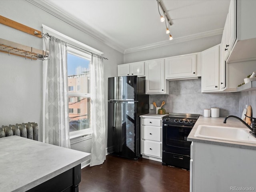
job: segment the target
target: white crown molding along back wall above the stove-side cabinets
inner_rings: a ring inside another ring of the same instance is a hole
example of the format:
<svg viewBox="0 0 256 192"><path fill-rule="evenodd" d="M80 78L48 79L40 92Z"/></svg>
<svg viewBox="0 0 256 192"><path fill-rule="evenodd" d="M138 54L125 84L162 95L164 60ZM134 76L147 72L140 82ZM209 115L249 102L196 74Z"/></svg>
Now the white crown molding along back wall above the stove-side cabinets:
<svg viewBox="0 0 256 192"><path fill-rule="evenodd" d="M162 46L196 40L196 39L200 39L200 38L206 38L206 37L210 37L210 36L220 35L223 33L223 29L224 28L220 28L220 29L211 30L211 31L207 31L207 32L202 32L202 33L197 33L197 34L188 35L188 36L184 36L184 37L174 38L173 40L166 40L166 41L162 41L162 42L148 44L146 46L139 46L139 47L135 47L135 48L126 49L126 50L124 50L124 54L158 48L158 47L162 47Z"/></svg>

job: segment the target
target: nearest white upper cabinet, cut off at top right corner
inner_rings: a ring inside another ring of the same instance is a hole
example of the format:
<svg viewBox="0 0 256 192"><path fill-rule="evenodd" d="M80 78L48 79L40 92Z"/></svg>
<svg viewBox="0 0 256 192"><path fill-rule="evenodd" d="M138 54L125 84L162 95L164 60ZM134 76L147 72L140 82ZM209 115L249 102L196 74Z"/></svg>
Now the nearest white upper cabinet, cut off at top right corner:
<svg viewBox="0 0 256 192"><path fill-rule="evenodd" d="M228 19L231 45L228 63L256 60L255 10L255 0L231 0L228 15L233 18Z"/></svg>

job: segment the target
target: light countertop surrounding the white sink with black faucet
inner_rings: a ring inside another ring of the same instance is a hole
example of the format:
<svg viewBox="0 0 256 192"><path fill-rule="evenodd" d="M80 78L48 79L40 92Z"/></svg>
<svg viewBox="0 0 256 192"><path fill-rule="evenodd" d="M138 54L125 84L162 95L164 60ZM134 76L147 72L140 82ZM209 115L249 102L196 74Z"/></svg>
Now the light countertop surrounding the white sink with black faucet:
<svg viewBox="0 0 256 192"><path fill-rule="evenodd" d="M244 143L244 142L232 142L225 140L217 140L217 139L208 139L208 138L200 138L195 137L194 134L199 125L209 125L209 126L222 126L222 127L235 127L235 128L247 128L242 122L235 118L228 118L226 124L223 123L225 118L213 118L213 117L203 117L200 116L196 121L196 124L192 128L190 134L188 135L188 141L201 142L201 143L209 143L216 144L222 146L230 146L236 148L244 148L244 149L252 149L256 150L256 144Z"/></svg>

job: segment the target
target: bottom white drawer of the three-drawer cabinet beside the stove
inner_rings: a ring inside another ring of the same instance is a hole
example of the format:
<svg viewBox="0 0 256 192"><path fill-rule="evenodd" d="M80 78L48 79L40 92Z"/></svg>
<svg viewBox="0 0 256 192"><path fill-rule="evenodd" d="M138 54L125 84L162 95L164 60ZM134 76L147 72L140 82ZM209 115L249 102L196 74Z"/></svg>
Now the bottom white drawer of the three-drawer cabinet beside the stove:
<svg viewBox="0 0 256 192"><path fill-rule="evenodd" d="M142 141L142 153L149 156L162 157L162 143L154 141Z"/></svg>

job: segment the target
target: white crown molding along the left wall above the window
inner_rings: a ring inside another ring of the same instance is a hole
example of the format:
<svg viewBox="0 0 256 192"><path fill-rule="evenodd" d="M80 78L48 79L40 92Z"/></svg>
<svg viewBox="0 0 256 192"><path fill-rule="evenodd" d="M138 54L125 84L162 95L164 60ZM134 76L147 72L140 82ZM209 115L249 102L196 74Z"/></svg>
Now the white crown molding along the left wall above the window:
<svg viewBox="0 0 256 192"><path fill-rule="evenodd" d="M53 7L47 1L42 1L42 0L40 1L26 0L26 1L44 10L45 12L51 14L52 16L55 16L56 18L66 22L67 24L70 24L74 28L77 28L78 30L88 34L92 38L95 38L96 40L110 46L111 48L117 50L118 52L124 53L124 48L121 48L120 46L118 46L118 44L113 43L114 40L111 40L110 38L104 36L103 34L99 34L99 32L93 30L89 26L86 26L84 23L79 22L78 20L75 20L71 16L61 12L57 8Z"/></svg>

